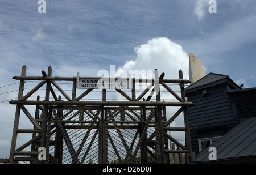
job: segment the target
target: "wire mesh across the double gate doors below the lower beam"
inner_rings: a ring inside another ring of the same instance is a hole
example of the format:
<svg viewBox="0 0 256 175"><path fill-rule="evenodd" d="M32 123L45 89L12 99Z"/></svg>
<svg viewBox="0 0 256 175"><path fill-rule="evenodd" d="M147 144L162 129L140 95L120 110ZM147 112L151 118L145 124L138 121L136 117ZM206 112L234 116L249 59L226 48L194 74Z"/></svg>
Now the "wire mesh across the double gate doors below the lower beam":
<svg viewBox="0 0 256 175"><path fill-rule="evenodd" d="M154 110L76 108L53 110L48 128L52 143L48 158L53 163L101 163L103 150L105 163L154 163L155 141L150 139L155 131Z"/></svg>

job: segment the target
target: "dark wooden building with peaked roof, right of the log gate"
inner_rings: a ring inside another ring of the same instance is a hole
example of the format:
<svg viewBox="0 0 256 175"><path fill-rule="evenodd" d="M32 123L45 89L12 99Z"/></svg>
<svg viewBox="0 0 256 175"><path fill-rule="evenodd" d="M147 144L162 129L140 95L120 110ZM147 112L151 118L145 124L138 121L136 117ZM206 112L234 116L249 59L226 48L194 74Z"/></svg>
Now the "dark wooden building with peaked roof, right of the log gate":
<svg viewBox="0 0 256 175"><path fill-rule="evenodd" d="M188 109L195 155L256 117L256 88L242 89L228 75L210 73L185 88L185 93L187 101L195 103Z"/></svg>

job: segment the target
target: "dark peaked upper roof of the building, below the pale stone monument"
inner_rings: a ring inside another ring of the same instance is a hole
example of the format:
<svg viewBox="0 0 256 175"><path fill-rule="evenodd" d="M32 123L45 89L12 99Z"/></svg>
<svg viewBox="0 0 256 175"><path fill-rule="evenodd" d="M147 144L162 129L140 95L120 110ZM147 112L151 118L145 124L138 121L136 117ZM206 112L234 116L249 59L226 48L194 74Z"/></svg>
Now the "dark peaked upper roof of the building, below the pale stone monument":
<svg viewBox="0 0 256 175"><path fill-rule="evenodd" d="M240 89L240 87L229 78L228 75L210 73L205 75L203 78L197 80L195 83L191 84L185 88L185 92L196 91L198 89L203 89L207 87L217 86L218 84L229 83L234 89Z"/></svg>

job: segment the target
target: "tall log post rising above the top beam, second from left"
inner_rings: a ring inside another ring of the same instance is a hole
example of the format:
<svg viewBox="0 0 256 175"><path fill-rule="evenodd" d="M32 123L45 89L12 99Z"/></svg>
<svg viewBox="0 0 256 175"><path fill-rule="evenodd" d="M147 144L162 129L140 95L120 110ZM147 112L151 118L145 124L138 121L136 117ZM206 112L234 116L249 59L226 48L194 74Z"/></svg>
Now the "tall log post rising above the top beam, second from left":
<svg viewBox="0 0 256 175"><path fill-rule="evenodd" d="M48 77L52 76L52 68L51 68L51 66L48 67L48 75L47 76ZM50 92L51 92L51 81L47 81L45 101L49 101ZM44 112L43 112L42 137L41 137L41 143L40 143L40 147L44 147L44 148L46 147L48 110L49 110L49 106L45 105L44 106ZM43 161L41 163L43 163Z"/></svg>

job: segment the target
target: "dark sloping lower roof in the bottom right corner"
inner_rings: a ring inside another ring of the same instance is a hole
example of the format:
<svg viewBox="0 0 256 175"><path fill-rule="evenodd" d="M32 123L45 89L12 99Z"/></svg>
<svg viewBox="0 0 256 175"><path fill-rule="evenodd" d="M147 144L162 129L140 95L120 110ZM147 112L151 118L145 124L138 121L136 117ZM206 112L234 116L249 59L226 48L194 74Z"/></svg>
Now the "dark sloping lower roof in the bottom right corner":
<svg viewBox="0 0 256 175"><path fill-rule="evenodd" d="M244 160L245 157L253 157L255 161L256 117L243 121L209 147L216 147L217 161L241 158ZM209 153L208 148L206 148L196 156L195 162L209 161ZM214 161L211 162L213 163Z"/></svg>

